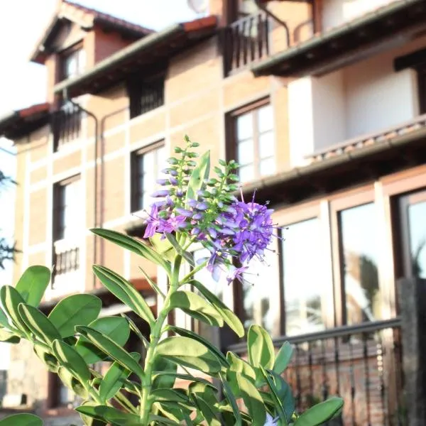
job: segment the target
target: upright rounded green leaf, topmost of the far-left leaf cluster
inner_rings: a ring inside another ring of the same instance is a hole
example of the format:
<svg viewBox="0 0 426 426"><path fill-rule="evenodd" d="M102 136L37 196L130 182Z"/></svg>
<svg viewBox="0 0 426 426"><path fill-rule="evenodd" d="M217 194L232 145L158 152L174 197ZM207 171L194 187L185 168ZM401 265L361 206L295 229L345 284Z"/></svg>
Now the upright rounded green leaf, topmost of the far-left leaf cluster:
<svg viewBox="0 0 426 426"><path fill-rule="evenodd" d="M38 307L50 282L50 271L45 266L30 266L16 284L16 291L28 305Z"/></svg>

